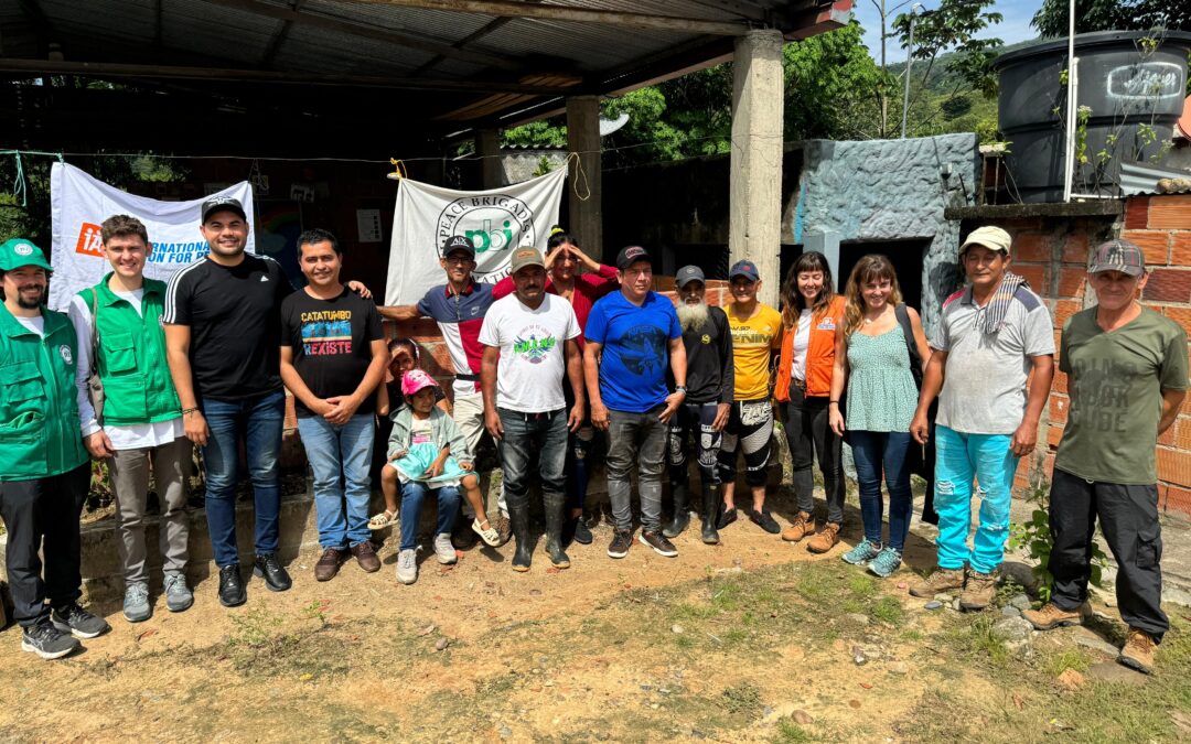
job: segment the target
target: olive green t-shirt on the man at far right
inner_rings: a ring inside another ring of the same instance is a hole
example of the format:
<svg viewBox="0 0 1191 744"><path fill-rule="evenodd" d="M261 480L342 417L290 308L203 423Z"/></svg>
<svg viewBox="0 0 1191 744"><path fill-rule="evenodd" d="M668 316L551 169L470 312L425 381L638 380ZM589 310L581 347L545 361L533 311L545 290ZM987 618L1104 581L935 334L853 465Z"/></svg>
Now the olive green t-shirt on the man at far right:
<svg viewBox="0 0 1191 744"><path fill-rule="evenodd" d="M1186 331L1142 308L1106 332L1091 307L1064 325L1059 370L1067 373L1071 409L1054 467L1103 483L1155 483L1162 390L1187 388Z"/></svg>

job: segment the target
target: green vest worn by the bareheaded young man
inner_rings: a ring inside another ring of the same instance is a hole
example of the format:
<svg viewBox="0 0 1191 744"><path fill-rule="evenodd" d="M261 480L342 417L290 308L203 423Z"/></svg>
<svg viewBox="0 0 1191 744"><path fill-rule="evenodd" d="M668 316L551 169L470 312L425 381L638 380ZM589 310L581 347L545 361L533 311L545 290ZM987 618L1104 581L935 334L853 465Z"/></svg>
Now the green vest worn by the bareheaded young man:
<svg viewBox="0 0 1191 744"><path fill-rule="evenodd" d="M107 274L79 296L92 307L98 292L95 327L99 354L92 363L104 382L104 424L131 426L168 421L182 415L166 357L166 331L161 325L166 283L144 280L141 312L107 288Z"/></svg>

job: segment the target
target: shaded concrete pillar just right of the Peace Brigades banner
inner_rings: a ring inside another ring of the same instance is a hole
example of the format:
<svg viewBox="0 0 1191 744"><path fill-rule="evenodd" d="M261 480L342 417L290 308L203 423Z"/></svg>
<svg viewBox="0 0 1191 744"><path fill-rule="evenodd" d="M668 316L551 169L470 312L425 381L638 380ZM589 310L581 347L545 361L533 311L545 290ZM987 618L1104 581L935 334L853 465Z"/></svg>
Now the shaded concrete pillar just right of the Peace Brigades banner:
<svg viewBox="0 0 1191 744"><path fill-rule="evenodd" d="M576 95L567 99L567 149L579 152L582 170L570 161L567 174L569 224L567 232L579 239L584 252L603 261L604 206L603 156L599 140L599 96ZM578 192L578 194L575 193Z"/></svg>

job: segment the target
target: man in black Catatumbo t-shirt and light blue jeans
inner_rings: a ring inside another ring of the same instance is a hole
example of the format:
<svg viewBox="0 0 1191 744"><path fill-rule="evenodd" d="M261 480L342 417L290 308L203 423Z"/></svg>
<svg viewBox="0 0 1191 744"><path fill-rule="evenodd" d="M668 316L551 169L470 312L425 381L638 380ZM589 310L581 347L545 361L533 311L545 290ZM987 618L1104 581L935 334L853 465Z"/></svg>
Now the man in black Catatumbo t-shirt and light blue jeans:
<svg viewBox="0 0 1191 744"><path fill-rule="evenodd" d="M388 346L376 304L339 282L343 251L325 230L298 237L298 263L310 282L281 302L281 380L294 394L306 459L314 473L318 544L314 579L330 581L348 554L380 570L372 545L373 394Z"/></svg>

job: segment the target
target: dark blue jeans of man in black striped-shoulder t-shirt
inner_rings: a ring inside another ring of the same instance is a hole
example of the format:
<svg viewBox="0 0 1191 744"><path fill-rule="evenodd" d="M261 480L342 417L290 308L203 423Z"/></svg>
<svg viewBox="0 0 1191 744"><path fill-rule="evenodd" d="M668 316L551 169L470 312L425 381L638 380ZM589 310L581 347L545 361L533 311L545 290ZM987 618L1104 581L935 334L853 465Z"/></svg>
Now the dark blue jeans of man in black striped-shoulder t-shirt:
<svg viewBox="0 0 1191 744"><path fill-rule="evenodd" d="M239 563L236 545L236 465L239 432L244 432L248 474L256 507L257 555L278 551L278 512L281 509L281 429L286 394L281 390L244 400L204 400L202 417L211 436L202 448L207 471L207 529L216 565Z"/></svg>

